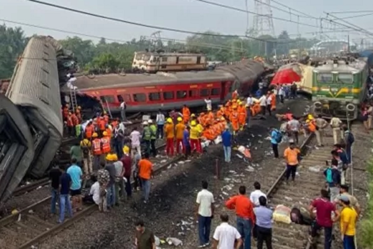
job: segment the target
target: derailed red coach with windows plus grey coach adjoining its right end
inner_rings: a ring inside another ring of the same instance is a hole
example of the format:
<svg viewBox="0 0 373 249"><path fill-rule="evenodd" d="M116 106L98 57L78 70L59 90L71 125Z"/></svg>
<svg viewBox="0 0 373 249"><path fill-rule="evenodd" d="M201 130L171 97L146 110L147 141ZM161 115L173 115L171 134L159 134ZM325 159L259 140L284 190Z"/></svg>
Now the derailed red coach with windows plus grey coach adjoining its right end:
<svg viewBox="0 0 373 249"><path fill-rule="evenodd" d="M128 112L153 112L203 106L208 97L213 104L222 103L235 90L246 95L265 70L263 63L245 60L214 71L82 76L73 85L78 96L100 99L111 112L120 111L122 101ZM71 90L65 86L62 91L69 95ZM84 109L79 97L78 104Z"/></svg>

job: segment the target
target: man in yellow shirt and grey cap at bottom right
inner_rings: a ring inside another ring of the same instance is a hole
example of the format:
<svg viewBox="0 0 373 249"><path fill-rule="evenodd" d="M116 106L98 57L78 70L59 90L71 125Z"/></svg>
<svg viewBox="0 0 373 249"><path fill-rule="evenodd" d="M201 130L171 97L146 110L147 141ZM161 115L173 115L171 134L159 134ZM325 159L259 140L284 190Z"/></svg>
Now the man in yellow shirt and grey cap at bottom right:
<svg viewBox="0 0 373 249"><path fill-rule="evenodd" d="M355 249L355 233L357 212L350 206L348 196L342 195L340 198L342 203L341 211L341 239L344 249Z"/></svg>

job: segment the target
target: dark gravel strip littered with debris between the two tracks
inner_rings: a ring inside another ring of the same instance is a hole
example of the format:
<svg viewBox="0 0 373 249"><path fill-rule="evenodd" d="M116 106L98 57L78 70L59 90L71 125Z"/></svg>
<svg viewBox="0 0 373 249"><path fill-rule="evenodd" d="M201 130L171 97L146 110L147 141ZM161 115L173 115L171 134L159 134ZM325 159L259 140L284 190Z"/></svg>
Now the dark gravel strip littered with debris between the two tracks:
<svg viewBox="0 0 373 249"><path fill-rule="evenodd" d="M291 103L294 102L280 106L278 113L287 112L289 106L292 112L300 115L304 107L309 105L307 100L298 100L297 105ZM238 137L239 144L251 143L252 163L244 162L233 152L233 163L222 164L221 146L211 146L202 158L173 165L154 178L151 199L146 205L140 202L139 195L135 195L132 200L112 210L110 214L95 212L73 227L48 239L38 248L132 248L133 224L138 218L142 218L156 236L164 239L176 237L184 242L182 248L195 248L197 239L194 207L195 197L201 188L201 180L209 181L209 189L215 196L222 194L221 188L227 184L232 187L231 191L224 190L228 195L235 193L241 184L245 184L250 191L253 189L254 180L262 181L262 185L265 186L267 173L270 174L273 167L279 165L279 161L272 159L268 154L270 143L264 139L268 136L269 125L279 125L279 122L274 117L267 118L267 121L253 121L250 131L245 130ZM222 164L222 179L229 178L229 180L214 178L216 159L219 160L219 164ZM253 168L249 168L248 165ZM252 170L254 172L251 172ZM223 198L226 199L228 195ZM221 203L221 200L217 198L217 203ZM221 207L221 204L218 204L217 209Z"/></svg>

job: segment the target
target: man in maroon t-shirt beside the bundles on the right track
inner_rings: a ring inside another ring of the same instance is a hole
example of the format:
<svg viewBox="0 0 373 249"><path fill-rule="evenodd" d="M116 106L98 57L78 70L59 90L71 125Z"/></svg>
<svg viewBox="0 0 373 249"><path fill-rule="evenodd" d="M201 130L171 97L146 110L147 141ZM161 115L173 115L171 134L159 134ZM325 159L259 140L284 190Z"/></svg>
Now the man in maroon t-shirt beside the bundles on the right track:
<svg viewBox="0 0 373 249"><path fill-rule="evenodd" d="M335 217L339 216L338 210L335 208L335 205L330 202L329 194L327 190L321 190L321 197L314 199L310 205L310 215L314 217L313 211L316 209L316 222L311 226L311 237L312 242L315 243L314 238L317 236L317 231L321 228L324 228L324 248L332 248L332 228L333 222L336 220L332 219L332 212L335 213Z"/></svg>

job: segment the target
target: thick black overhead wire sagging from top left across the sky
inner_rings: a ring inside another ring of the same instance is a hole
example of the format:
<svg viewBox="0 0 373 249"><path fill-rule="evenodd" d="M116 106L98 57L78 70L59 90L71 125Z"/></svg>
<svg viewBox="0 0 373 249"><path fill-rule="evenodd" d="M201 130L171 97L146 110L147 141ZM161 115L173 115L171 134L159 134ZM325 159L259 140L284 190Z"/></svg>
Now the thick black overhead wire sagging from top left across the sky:
<svg viewBox="0 0 373 249"><path fill-rule="evenodd" d="M79 13L79 14L82 14L82 15L93 16L93 17L96 17L96 18L106 19L106 20L115 21L115 22L122 22L122 23L125 23L125 24L131 24L131 25L145 27L145 28L153 28L153 29L158 29L158 30L166 30L166 31L178 32L178 33L184 33L184 34L193 34L193 35L206 35L206 36L214 36L214 37L241 37L241 38L251 38L253 40L264 41L264 42L269 41L269 40L264 40L264 39L260 39L260 38L257 38L257 37L250 37L250 36L247 36L247 35L211 34L211 33L187 31L187 30L176 29L176 28L160 27L160 26L155 26L155 25L142 24L142 23L139 23L139 22L127 21L127 20L123 20L123 19L119 19L119 18L113 18L113 17L110 17L110 16L104 16L104 15L95 14L95 13L91 13L91 12L87 12L87 11L83 11L83 10L72 9L72 8L69 8L69 7L60 6L60 5L52 4L52 3L46 3L46 2L38 1L38 0L26 0L26 1L29 1L29 2L32 2L32 3L37 3L37 4L42 4L42 5L49 6L49 7L54 7L54 8L57 8L57 9L67 10L67 11Z"/></svg>

